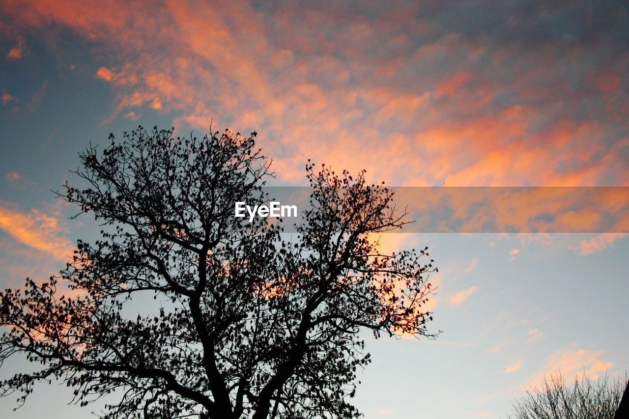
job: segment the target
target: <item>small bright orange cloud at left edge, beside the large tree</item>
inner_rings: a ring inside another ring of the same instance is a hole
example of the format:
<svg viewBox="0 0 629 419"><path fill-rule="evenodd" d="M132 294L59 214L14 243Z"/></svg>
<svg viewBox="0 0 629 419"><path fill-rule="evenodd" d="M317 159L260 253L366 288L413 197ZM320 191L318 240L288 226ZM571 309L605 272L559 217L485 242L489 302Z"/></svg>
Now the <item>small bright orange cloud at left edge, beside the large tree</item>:
<svg viewBox="0 0 629 419"><path fill-rule="evenodd" d="M33 208L23 213L14 204L0 201L0 229L14 240L67 262L72 257L74 245L64 236L65 229L55 216Z"/></svg>

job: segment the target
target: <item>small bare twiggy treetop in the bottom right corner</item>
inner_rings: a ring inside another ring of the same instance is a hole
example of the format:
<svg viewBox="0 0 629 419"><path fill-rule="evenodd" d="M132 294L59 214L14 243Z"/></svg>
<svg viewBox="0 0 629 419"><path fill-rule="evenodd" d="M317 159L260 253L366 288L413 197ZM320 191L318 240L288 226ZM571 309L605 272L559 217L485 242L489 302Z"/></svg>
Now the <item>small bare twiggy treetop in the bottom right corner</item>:
<svg viewBox="0 0 629 419"><path fill-rule="evenodd" d="M529 386L511 402L509 419L613 419L628 380L604 376L597 380L585 373L567 386L560 374L544 377L540 388Z"/></svg>

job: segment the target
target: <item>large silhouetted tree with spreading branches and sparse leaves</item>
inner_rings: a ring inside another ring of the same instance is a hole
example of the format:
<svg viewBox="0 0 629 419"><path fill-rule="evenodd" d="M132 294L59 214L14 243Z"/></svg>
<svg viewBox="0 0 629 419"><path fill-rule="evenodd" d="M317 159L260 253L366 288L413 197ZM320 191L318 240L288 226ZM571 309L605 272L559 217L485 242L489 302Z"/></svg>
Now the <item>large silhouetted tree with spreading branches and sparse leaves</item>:
<svg viewBox="0 0 629 419"><path fill-rule="evenodd" d="M436 269L420 263L427 248L378 253L373 235L406 221L364 171L308 162L313 207L294 235L236 218L235 202L268 198L255 137L140 127L79 154L86 187L59 195L94 215L101 239L79 240L50 281L0 293L0 360L38 366L5 394L23 403L56 378L81 405L117 395L108 418L359 416L348 397L369 362L360 330L433 337L422 306Z"/></svg>

